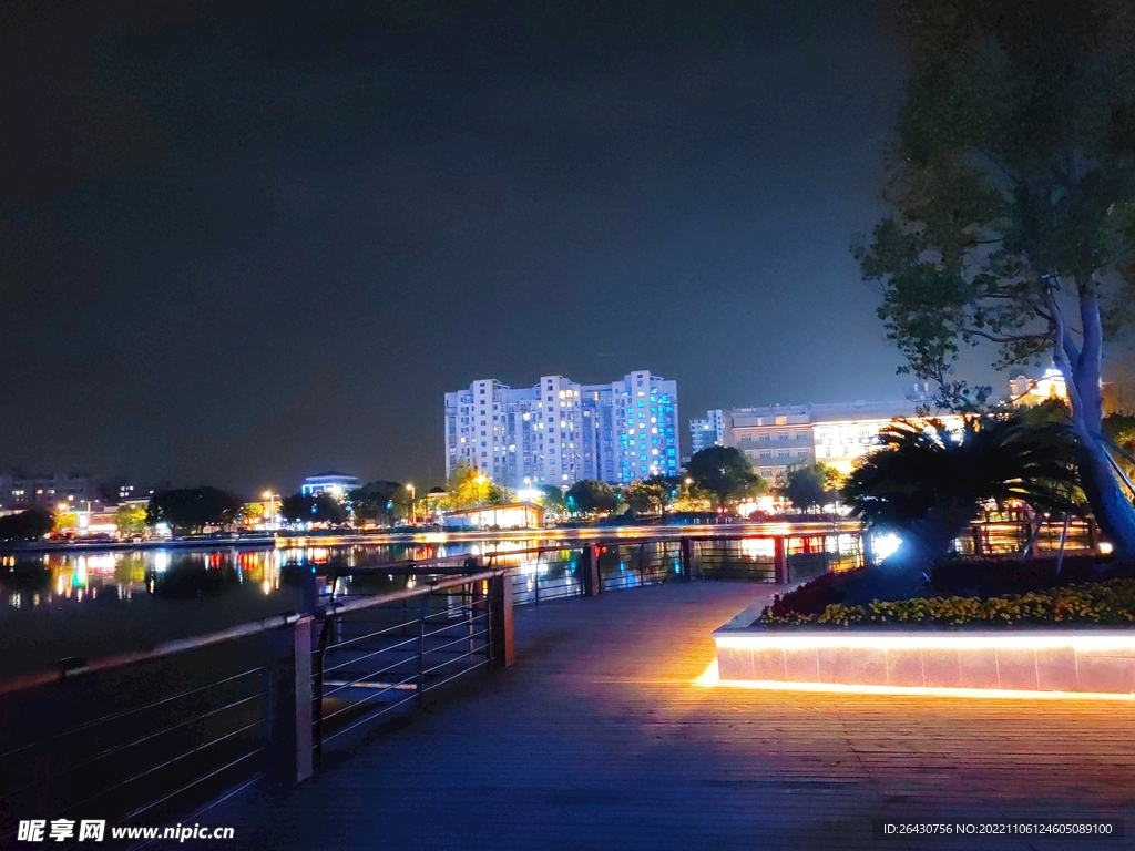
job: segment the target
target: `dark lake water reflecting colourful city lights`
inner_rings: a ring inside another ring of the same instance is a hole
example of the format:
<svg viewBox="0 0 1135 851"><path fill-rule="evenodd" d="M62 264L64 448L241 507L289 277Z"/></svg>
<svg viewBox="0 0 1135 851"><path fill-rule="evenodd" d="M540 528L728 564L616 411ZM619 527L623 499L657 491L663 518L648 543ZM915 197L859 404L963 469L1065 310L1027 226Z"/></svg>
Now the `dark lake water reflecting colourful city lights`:
<svg viewBox="0 0 1135 851"><path fill-rule="evenodd" d="M642 530L642 534L647 532ZM638 542L636 534L620 530L617 542L608 542L600 556L600 573L616 583L612 587L634 584L636 571L648 563L665 563L667 570L679 567L676 537L658 544ZM658 530L649 530L649 534L657 537ZM825 568L836 567L840 558L855 557L852 536L826 540L831 557L824 557ZM537 546L553 548L538 555L519 553ZM697 558L707 566L740 567L748 579L759 579L760 571L772 570L772 540L759 532L729 541L699 541L697 546ZM0 556L0 677L68 657L93 659L143 650L297 610L301 595L296 578L312 566L321 578L321 593L372 595L407 583L405 572L387 572L382 565L491 555L494 565L518 567L518 580L527 574L527 582L514 585L515 593L518 603L532 601L533 593L544 592L539 589L568 592L572 583L578 584L579 547L579 540L563 537L512 536L501 540L322 546L306 539L303 545L280 540L277 546L255 547L218 544L192 549L8 554ZM790 555L790 561L793 558ZM800 558L802 563L808 556ZM812 559L815 564L809 570L815 570L819 563L815 555ZM337 581L336 575L340 576Z"/></svg>

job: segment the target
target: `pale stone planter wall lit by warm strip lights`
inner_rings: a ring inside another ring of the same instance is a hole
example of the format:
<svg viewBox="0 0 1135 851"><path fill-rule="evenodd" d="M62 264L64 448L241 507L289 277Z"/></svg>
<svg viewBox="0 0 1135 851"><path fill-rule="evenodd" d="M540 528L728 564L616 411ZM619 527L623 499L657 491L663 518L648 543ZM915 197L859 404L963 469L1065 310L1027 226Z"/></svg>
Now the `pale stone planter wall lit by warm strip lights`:
<svg viewBox="0 0 1135 851"><path fill-rule="evenodd" d="M723 629L714 639L726 682L1135 693L1135 630Z"/></svg>

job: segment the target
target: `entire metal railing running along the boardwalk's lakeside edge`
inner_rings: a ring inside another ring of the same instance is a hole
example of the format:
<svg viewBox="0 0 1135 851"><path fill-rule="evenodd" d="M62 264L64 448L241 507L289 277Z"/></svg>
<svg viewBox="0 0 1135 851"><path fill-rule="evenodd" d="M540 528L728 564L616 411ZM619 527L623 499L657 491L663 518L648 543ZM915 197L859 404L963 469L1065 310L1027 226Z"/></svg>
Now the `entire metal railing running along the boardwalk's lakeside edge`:
<svg viewBox="0 0 1135 851"><path fill-rule="evenodd" d="M743 528L661 530L354 566L306 596L310 615L0 682L0 848L19 819L155 824L260 778L302 781L364 730L510 665L514 605L698 578L789 581L858 557L815 525L771 548ZM368 574L403 587L367 593Z"/></svg>

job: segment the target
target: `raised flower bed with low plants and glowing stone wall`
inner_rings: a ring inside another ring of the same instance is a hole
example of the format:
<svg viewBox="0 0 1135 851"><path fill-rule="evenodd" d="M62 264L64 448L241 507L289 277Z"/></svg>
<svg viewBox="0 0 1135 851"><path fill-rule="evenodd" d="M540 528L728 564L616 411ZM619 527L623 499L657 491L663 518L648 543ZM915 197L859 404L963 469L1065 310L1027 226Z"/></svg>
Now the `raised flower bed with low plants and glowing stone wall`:
<svg viewBox="0 0 1135 851"><path fill-rule="evenodd" d="M847 606L840 600L856 576L821 576L751 626L715 632L718 677L763 688L1135 697L1135 578L1113 568L1104 581L1061 584L1094 568L997 568L990 576L955 564L945 575L962 587L976 578L986 589L1043 588Z"/></svg>

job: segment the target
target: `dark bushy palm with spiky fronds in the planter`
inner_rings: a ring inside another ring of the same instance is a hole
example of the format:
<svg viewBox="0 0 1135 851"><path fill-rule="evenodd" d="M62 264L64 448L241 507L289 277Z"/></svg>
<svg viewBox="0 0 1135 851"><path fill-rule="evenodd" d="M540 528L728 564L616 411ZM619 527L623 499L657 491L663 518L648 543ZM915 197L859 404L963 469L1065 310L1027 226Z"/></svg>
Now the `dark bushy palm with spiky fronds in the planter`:
<svg viewBox="0 0 1135 851"><path fill-rule="evenodd" d="M880 437L883 448L848 477L842 492L868 529L901 532L903 551L886 564L888 591L916 591L983 503L1075 507L1076 444L1062 423L1033 423L1017 413L969 416L951 432L940 420L899 421ZM855 596L878 591L878 579Z"/></svg>

